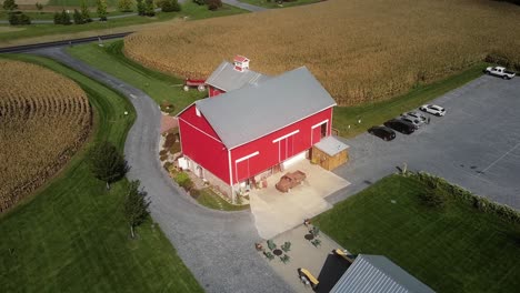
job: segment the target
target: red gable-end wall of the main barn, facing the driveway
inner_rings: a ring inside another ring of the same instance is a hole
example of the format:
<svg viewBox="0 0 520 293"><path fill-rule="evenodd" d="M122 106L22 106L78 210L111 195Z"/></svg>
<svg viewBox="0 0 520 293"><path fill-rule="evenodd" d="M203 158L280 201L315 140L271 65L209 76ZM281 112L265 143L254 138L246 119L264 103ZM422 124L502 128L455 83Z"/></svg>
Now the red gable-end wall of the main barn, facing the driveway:
<svg viewBox="0 0 520 293"><path fill-rule="evenodd" d="M229 182L228 150L208 121L197 115L194 105L180 114L179 132L183 154L223 182Z"/></svg>

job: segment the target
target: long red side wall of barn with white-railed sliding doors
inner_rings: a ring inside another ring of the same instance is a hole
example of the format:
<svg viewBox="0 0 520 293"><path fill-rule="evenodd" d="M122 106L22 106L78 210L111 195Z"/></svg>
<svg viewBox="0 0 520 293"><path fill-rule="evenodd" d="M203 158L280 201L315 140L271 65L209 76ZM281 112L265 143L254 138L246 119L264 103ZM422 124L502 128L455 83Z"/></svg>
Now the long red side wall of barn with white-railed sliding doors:
<svg viewBox="0 0 520 293"><path fill-rule="evenodd" d="M239 183L310 149L312 144L320 140L320 128L312 129L312 127L324 120L328 120L327 135L330 135L332 108L231 150L233 183ZM273 143L273 140L294 131L298 131L298 133ZM259 152L259 154L237 162L237 160L256 152Z"/></svg>

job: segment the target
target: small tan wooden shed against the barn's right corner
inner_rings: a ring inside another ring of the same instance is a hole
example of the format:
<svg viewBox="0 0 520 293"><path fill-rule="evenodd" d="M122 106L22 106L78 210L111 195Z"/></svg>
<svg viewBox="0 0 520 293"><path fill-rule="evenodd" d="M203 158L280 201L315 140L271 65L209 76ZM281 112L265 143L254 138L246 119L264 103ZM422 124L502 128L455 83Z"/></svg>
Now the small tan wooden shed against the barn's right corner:
<svg viewBox="0 0 520 293"><path fill-rule="evenodd" d="M349 160L349 146L334 137L328 137L312 145L311 162L326 170L334 170Z"/></svg>

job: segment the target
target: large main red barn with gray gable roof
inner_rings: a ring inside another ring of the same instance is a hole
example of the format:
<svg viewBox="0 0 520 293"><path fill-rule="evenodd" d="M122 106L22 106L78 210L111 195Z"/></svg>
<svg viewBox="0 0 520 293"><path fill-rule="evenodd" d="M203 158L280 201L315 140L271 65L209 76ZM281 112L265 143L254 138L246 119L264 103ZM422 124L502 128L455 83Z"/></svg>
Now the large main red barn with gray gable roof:
<svg viewBox="0 0 520 293"><path fill-rule="evenodd" d="M189 105L178 115L182 153L192 172L234 199L329 137L334 105L302 67Z"/></svg>

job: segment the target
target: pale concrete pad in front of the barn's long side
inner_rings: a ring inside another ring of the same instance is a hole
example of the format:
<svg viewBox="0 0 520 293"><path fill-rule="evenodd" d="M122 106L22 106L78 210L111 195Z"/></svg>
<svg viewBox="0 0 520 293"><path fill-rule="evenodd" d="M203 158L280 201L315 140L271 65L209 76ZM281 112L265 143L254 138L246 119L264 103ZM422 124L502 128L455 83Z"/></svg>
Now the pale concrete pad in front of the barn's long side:
<svg viewBox="0 0 520 293"><path fill-rule="evenodd" d="M282 193L274 184L287 172L300 170L307 174L302 184L288 193ZM286 171L268 178L268 188L250 192L251 212L254 224L262 239L271 239L303 222L303 219L318 215L332 205L326 196L348 186L344 179L301 160L287 168Z"/></svg>

